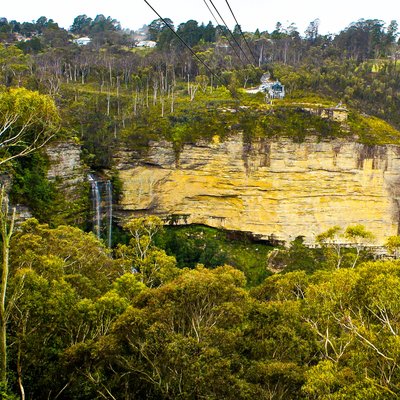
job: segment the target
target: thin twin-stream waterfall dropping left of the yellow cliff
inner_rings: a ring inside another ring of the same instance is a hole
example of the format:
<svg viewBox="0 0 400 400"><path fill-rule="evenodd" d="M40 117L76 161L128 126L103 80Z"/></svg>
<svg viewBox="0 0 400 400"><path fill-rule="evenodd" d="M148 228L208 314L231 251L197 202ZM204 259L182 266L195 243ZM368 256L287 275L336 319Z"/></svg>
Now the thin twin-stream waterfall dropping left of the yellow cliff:
<svg viewBox="0 0 400 400"><path fill-rule="evenodd" d="M113 198L112 184L109 180L88 175L92 199L93 232L98 239L104 239L108 247L112 244Z"/></svg>

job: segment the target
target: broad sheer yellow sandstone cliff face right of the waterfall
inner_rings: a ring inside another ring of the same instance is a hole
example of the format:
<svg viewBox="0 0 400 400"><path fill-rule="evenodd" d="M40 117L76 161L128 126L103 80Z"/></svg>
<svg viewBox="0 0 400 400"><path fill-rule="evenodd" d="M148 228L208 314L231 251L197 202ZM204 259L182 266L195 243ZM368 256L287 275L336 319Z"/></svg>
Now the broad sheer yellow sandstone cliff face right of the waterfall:
<svg viewBox="0 0 400 400"><path fill-rule="evenodd" d="M264 139L185 145L152 143L120 165L120 215L181 216L180 222L307 243L334 225L363 224L376 244L399 224L400 148L345 140ZM184 218L183 218L184 217Z"/></svg>

